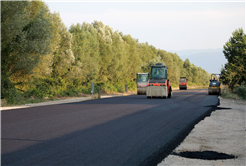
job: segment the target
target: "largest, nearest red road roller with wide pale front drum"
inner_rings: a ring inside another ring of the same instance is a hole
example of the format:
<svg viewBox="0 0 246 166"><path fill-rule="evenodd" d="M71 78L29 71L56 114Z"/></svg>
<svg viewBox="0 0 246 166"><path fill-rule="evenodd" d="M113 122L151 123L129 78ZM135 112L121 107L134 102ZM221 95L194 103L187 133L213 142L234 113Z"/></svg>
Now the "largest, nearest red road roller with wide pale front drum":
<svg viewBox="0 0 246 166"><path fill-rule="evenodd" d="M167 71L168 67L163 65L163 63L156 63L151 66L151 79L146 89L147 98L171 98L172 86L168 79Z"/></svg>

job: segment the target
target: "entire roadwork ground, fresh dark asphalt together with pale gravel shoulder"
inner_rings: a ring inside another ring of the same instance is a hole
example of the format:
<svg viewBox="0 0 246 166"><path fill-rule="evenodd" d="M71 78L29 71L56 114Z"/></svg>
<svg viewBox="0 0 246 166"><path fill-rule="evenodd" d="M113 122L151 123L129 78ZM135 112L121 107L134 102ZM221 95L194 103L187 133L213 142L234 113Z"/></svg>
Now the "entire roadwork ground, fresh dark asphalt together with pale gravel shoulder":
<svg viewBox="0 0 246 166"><path fill-rule="evenodd" d="M108 95L1 107L1 165L245 165L246 103L216 98L174 90L171 99Z"/></svg>

